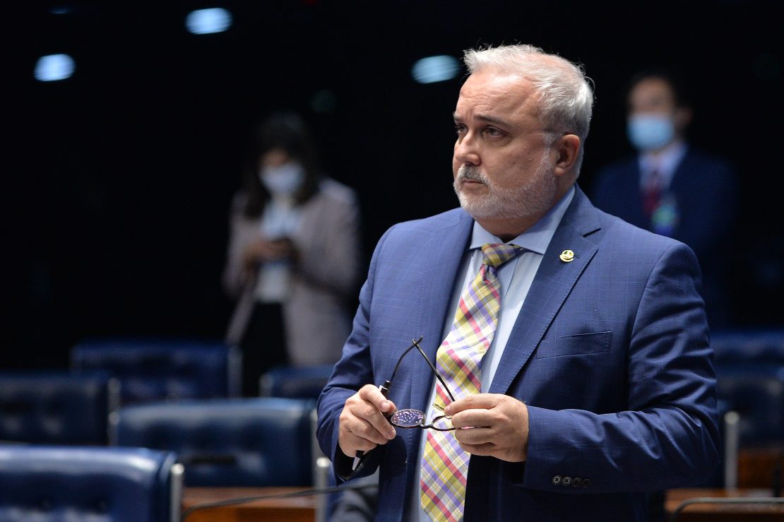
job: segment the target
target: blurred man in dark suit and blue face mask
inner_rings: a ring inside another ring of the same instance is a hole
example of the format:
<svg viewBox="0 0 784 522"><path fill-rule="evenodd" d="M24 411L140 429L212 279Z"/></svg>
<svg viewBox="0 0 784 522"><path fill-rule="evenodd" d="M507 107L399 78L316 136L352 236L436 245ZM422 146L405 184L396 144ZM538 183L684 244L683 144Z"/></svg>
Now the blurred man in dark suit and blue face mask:
<svg viewBox="0 0 784 522"><path fill-rule="evenodd" d="M728 328L727 245L735 234L738 184L728 161L688 145L692 111L682 85L664 69L632 78L626 130L637 154L597 172L591 200L604 212L691 247L702 269L709 324Z"/></svg>

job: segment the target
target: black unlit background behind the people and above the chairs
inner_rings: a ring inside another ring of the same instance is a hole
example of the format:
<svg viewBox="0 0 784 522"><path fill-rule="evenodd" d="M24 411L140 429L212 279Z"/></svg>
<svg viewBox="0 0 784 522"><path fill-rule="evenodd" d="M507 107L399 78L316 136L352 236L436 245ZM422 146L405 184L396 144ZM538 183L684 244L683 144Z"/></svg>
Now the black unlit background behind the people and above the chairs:
<svg viewBox="0 0 784 522"><path fill-rule="evenodd" d="M424 56L533 43L583 63L597 103L580 184L630 153L622 93L666 63L695 93L696 146L739 172L728 230L738 323L782 322L782 53L768 2L25 2L6 10L4 367L64 366L96 335L220 338L227 211L253 123L300 111L325 170L358 190L369 257L392 223L456 205L451 113L463 74ZM51 9L66 7L67 13ZM192 9L234 25L194 35ZM39 56L76 72L37 82ZM5 90L5 89L4 89ZM325 92L327 94L325 95ZM321 93L321 94L318 94ZM326 98L325 108L314 96Z"/></svg>

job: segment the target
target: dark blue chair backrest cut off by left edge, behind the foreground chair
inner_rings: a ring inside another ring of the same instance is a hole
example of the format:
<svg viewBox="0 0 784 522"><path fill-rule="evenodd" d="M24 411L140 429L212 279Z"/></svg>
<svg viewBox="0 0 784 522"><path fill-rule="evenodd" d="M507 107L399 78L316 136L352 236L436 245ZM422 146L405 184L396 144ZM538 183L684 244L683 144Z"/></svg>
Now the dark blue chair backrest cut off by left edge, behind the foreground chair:
<svg viewBox="0 0 784 522"><path fill-rule="evenodd" d="M107 444L107 417L118 402L109 375L0 372L0 440Z"/></svg>

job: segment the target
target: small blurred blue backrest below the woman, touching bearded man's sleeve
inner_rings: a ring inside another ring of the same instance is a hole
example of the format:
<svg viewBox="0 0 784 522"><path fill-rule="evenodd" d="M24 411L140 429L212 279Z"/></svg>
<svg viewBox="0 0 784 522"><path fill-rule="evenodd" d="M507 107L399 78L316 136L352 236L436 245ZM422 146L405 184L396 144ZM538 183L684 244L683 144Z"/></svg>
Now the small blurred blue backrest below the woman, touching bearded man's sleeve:
<svg viewBox="0 0 784 522"><path fill-rule="evenodd" d="M334 366L275 366L261 376L259 394L262 397L318 399Z"/></svg>

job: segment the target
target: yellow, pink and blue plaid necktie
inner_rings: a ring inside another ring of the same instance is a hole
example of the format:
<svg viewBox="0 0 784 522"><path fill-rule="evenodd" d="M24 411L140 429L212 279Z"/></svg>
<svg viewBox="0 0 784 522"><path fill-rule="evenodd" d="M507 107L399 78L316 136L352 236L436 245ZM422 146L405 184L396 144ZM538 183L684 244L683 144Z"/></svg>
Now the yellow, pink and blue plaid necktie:
<svg viewBox="0 0 784 522"><path fill-rule="evenodd" d="M517 245L482 246L485 259L479 274L460 296L452 330L438 348L438 372L457 400L480 392L481 360L492 343L501 308L497 268L520 250ZM436 393L441 404L448 404L448 395L440 382L436 382ZM469 458L454 432L427 430L419 502L432 520L463 518Z"/></svg>

